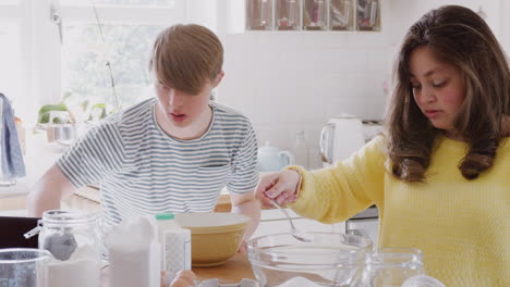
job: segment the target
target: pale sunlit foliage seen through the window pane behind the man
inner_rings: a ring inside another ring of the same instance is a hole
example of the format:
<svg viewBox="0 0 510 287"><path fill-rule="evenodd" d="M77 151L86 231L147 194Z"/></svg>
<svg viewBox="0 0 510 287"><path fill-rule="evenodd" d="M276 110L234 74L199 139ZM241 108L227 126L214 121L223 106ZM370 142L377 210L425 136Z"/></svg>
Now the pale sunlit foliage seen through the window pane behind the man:
<svg viewBox="0 0 510 287"><path fill-rule="evenodd" d="M62 72L64 90L93 102L120 108L150 97L148 59L162 26L104 25L102 41L96 24L66 26ZM111 64L114 90L107 63Z"/></svg>

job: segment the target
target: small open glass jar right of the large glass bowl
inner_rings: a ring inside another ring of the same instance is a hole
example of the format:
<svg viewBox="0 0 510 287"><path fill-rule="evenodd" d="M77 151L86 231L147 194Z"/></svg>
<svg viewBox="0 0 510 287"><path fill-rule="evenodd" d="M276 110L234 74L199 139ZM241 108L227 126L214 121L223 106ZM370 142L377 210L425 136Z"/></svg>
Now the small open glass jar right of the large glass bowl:
<svg viewBox="0 0 510 287"><path fill-rule="evenodd" d="M423 274L421 250L398 247L380 248L366 255L362 286L402 286L408 278L421 274Z"/></svg>

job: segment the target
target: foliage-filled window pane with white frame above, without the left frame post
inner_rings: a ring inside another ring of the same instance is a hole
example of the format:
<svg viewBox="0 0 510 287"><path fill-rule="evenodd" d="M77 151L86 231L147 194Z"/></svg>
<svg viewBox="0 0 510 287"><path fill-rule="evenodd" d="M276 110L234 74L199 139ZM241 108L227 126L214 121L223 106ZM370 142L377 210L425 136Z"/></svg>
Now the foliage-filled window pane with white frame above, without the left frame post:
<svg viewBox="0 0 510 287"><path fill-rule="evenodd" d="M147 63L153 41L163 27L185 22L184 1L59 2L63 95L119 109L150 97Z"/></svg>

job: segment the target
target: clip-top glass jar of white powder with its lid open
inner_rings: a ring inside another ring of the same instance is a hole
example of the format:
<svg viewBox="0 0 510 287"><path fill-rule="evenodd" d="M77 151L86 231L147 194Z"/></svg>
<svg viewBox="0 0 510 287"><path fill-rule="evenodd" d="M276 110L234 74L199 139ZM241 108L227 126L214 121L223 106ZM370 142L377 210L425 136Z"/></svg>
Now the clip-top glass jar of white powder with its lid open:
<svg viewBox="0 0 510 287"><path fill-rule="evenodd" d="M50 210L25 237L39 233L39 249L54 261L49 265L51 287L99 287L101 270L98 214L85 211Z"/></svg>

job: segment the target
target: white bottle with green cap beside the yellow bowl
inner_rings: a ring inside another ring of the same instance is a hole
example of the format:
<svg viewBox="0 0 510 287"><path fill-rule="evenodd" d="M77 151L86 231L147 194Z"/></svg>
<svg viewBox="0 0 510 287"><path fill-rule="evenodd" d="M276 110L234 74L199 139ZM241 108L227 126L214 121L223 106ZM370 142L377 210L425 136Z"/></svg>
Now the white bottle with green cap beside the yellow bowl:
<svg viewBox="0 0 510 287"><path fill-rule="evenodd" d="M181 270L191 270L191 230L181 228L172 213L156 214L158 238L161 244L161 274L165 286Z"/></svg>

